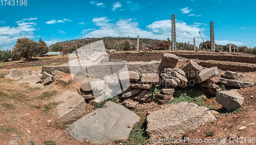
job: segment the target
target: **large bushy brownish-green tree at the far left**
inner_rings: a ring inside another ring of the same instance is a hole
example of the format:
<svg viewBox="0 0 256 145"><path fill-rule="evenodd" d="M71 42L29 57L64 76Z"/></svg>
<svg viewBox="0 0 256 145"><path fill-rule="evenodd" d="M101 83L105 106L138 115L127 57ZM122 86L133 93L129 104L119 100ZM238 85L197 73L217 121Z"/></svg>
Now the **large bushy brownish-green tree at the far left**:
<svg viewBox="0 0 256 145"><path fill-rule="evenodd" d="M28 62L32 60L32 57L39 54L39 44L33 39L19 38L13 47L13 55L15 57L24 57Z"/></svg>

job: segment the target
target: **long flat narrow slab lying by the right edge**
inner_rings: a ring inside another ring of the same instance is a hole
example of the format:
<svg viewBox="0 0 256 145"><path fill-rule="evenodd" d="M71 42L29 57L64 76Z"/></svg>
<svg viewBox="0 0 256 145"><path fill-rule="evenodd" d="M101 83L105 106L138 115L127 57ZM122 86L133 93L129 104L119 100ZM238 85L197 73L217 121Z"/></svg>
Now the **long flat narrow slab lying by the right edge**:
<svg viewBox="0 0 256 145"><path fill-rule="evenodd" d="M238 80L230 80L230 79L220 79L220 85L224 84L225 86L231 86L234 88L250 88L254 85L253 82L246 82L246 81L238 81Z"/></svg>

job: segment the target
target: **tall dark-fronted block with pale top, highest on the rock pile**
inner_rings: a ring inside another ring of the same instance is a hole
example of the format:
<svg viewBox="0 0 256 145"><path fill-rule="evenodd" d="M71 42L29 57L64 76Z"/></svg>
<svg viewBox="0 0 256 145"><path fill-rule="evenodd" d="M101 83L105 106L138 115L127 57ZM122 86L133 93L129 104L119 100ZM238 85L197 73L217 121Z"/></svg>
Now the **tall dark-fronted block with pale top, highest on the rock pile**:
<svg viewBox="0 0 256 145"><path fill-rule="evenodd" d="M164 53L163 59L158 67L158 74L161 74L164 68L175 68L179 57L175 54Z"/></svg>

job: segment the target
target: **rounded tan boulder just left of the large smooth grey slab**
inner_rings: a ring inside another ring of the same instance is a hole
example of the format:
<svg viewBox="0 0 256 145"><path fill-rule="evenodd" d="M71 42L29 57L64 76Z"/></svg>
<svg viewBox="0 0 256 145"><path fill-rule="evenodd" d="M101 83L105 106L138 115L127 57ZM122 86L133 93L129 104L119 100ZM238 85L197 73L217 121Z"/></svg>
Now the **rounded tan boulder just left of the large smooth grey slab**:
<svg viewBox="0 0 256 145"><path fill-rule="evenodd" d="M83 116L86 111L86 101L78 93L65 91L55 96L51 101L60 103L56 107L59 120L65 124L72 124Z"/></svg>

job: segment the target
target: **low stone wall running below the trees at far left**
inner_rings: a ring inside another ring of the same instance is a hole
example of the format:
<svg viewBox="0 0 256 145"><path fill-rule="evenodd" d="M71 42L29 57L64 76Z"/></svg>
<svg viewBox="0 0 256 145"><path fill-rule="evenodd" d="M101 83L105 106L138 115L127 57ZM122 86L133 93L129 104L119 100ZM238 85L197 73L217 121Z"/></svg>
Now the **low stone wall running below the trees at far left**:
<svg viewBox="0 0 256 145"><path fill-rule="evenodd" d="M11 68L28 67L28 66L36 66L36 65L51 65L54 63L67 63L68 61L69 61L68 57L63 57L63 58L60 57L56 60L49 60L49 61L38 61L38 62L3 65L3 66L0 66L0 69L11 69Z"/></svg>

